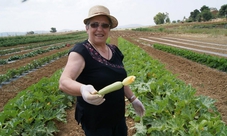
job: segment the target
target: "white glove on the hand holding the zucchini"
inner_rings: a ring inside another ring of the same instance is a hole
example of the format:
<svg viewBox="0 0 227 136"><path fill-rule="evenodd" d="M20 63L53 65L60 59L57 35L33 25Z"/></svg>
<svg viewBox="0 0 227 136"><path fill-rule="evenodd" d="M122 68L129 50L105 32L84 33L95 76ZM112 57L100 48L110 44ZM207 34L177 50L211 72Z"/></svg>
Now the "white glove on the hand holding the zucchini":
<svg viewBox="0 0 227 136"><path fill-rule="evenodd" d="M97 91L92 85L82 85L80 87L80 93L84 101L89 104L100 105L105 101L102 95L97 94Z"/></svg>

